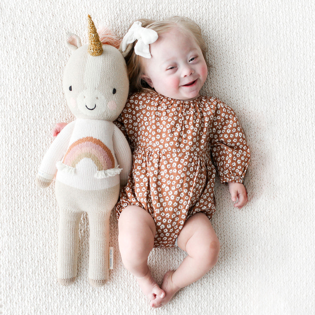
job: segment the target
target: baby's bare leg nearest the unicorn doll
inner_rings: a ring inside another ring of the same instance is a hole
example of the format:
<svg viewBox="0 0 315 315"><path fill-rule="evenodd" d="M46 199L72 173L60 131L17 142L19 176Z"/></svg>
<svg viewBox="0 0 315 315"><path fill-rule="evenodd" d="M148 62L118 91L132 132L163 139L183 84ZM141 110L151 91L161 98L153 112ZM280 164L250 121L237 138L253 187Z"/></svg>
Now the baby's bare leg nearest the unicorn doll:
<svg viewBox="0 0 315 315"><path fill-rule="evenodd" d="M140 207L128 206L119 216L118 230L123 264L136 277L142 292L150 300L165 296L147 264L156 233L152 216Z"/></svg>

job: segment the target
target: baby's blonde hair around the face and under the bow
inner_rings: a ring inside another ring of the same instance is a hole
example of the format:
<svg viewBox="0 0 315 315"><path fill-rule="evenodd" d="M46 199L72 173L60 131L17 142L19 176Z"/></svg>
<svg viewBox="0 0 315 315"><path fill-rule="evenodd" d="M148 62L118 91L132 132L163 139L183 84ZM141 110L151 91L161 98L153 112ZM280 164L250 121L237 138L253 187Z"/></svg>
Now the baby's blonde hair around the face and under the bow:
<svg viewBox="0 0 315 315"><path fill-rule="evenodd" d="M198 43L203 54L203 58L204 60L206 60L207 46L201 36L200 27L189 18L186 18L184 16L172 16L162 21L155 21L149 19L138 19L137 21L140 21L142 23L142 27L156 31L159 36L164 32L171 30L174 27L178 27L183 32L190 33ZM146 83L144 79L142 79L142 76L144 75L143 66L141 64L142 57L135 54L134 46L136 43L137 41L135 41L132 44L132 49L125 58L130 83L129 91L140 92L141 90L154 90ZM206 64L209 67L207 60Z"/></svg>

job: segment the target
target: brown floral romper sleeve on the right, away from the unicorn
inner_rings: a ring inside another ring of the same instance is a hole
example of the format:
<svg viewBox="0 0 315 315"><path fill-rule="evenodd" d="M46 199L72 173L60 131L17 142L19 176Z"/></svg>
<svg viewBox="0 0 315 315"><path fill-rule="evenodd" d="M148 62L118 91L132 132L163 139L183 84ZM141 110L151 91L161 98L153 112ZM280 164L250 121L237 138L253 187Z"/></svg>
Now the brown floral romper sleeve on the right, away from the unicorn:
<svg viewBox="0 0 315 315"><path fill-rule="evenodd" d="M242 183L249 165L249 147L236 114L220 100L210 132L211 154L221 183Z"/></svg>

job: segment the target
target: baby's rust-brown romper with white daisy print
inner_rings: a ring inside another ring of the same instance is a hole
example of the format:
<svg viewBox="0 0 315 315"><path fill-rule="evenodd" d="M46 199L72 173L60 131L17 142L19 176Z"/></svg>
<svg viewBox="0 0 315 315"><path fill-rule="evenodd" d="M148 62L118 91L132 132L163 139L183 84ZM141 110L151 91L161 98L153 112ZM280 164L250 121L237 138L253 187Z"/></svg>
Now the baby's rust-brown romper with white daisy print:
<svg viewBox="0 0 315 315"><path fill-rule="evenodd" d="M157 230L154 247L174 246L187 218L199 211L211 219L215 166L221 182L243 182L249 148L235 113L221 100L136 93L115 123L133 152L117 218L129 205L148 211Z"/></svg>

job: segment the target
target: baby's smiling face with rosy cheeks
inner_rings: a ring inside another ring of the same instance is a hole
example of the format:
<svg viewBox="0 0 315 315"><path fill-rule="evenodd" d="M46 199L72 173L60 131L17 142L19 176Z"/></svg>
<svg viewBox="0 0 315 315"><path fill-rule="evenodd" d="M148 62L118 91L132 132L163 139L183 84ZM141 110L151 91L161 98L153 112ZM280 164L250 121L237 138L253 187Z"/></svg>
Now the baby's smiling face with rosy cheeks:
<svg viewBox="0 0 315 315"><path fill-rule="evenodd" d="M192 100L206 81L208 69L194 37L174 28L150 44L152 58L142 58L143 78L157 93Z"/></svg>

